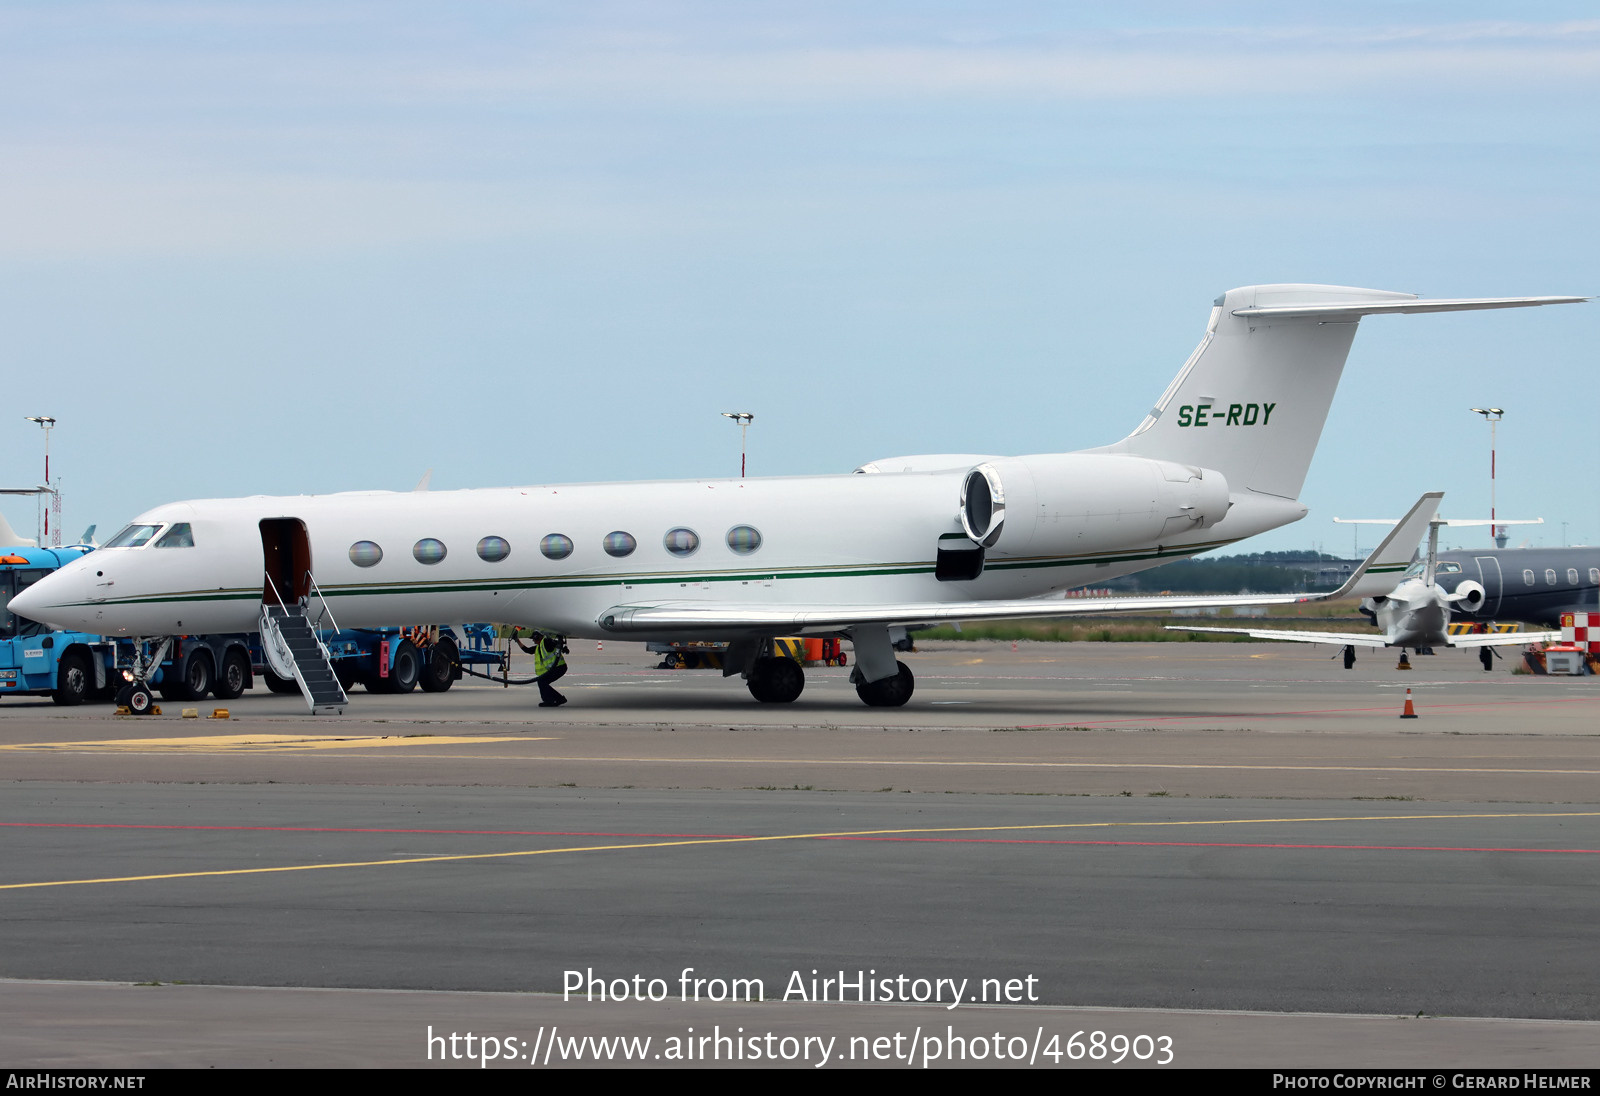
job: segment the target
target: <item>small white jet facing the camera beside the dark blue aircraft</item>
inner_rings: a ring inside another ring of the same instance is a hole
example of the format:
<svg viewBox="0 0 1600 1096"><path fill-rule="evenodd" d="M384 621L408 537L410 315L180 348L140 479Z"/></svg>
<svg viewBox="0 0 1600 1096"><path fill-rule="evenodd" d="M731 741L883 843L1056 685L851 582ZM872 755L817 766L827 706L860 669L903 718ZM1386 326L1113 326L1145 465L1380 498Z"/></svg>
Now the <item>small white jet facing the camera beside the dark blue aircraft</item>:
<svg viewBox="0 0 1600 1096"><path fill-rule="evenodd" d="M1507 645L1523 645L1523 643L1554 643L1560 638L1560 632L1474 632L1467 635L1451 635L1450 634L1450 613L1451 610L1459 610L1464 613L1477 613L1483 608L1483 586L1474 579L1459 582L1454 590L1446 590L1435 582L1435 574L1438 573L1438 530L1443 525L1490 525L1488 520L1478 518L1442 518L1438 514L1438 501L1445 498L1443 491L1434 491L1424 494L1411 512L1395 522L1384 520L1357 520L1346 522L1347 525L1394 525L1395 530L1386 539L1386 544L1394 542L1403 546L1406 550L1414 546L1421 536L1422 530L1427 530L1427 555L1400 576L1400 582L1394 589L1384 590L1381 594L1373 594L1366 597L1362 603L1362 611L1373 618L1378 624L1376 635L1352 634L1352 632L1301 632L1301 630L1282 630L1282 629L1259 629L1259 627L1178 627L1168 624L1170 630L1182 632L1227 632L1234 635L1251 635L1258 640L1293 640L1299 643L1341 643L1346 648L1346 669L1354 662L1354 648L1357 646L1398 646L1411 650L1424 650L1434 646L1469 646L1477 648L1483 661L1483 669L1490 669L1490 648L1491 646L1507 646ZM1339 522L1341 518L1334 518ZM1504 518L1494 522L1494 525L1539 525L1541 520L1534 522L1507 522ZM1368 568L1368 574L1373 574L1374 568Z"/></svg>

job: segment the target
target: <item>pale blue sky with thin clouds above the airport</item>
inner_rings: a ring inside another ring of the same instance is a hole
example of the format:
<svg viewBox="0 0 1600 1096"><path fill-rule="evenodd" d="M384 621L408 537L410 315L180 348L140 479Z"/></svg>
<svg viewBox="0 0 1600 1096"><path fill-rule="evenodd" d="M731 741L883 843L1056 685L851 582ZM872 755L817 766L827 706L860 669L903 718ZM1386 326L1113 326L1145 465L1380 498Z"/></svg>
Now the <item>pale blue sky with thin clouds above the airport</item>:
<svg viewBox="0 0 1600 1096"><path fill-rule="evenodd" d="M1536 11L1536 18L1525 13ZM848 472L1133 429L1213 298L1600 293L1587 3L0 6L0 486ZM1362 323L1235 550L1600 544L1600 302ZM0 499L24 534L34 502ZM1446 544L1486 542L1485 530Z"/></svg>

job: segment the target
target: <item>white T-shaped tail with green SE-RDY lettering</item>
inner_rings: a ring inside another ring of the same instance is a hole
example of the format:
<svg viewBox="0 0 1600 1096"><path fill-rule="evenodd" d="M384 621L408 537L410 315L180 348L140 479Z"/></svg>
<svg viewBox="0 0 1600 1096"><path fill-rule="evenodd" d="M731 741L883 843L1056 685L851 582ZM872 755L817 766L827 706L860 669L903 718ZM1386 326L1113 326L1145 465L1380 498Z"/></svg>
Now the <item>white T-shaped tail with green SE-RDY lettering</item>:
<svg viewBox="0 0 1600 1096"><path fill-rule="evenodd" d="M1139 427L1098 453L1216 469L1230 491L1299 498L1363 315L1586 298L1424 301L1339 285L1251 285L1218 298L1205 338Z"/></svg>

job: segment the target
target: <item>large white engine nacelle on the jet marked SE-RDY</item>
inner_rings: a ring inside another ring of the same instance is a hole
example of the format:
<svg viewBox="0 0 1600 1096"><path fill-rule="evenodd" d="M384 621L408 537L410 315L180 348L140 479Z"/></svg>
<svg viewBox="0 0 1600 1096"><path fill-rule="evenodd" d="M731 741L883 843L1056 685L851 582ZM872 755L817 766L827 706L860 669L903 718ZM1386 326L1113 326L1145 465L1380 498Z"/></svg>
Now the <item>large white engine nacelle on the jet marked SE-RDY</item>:
<svg viewBox="0 0 1600 1096"><path fill-rule="evenodd" d="M1227 514L1221 472L1173 461L1056 453L986 461L962 480L958 518L1006 555L1093 554L1179 541Z"/></svg>

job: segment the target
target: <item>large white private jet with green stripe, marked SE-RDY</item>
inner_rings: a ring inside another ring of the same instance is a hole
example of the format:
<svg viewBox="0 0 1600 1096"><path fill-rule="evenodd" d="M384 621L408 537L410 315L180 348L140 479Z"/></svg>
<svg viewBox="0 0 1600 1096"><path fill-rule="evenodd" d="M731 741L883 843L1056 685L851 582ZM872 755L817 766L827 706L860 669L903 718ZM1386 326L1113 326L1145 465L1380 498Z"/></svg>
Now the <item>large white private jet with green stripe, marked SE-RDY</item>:
<svg viewBox="0 0 1600 1096"><path fill-rule="evenodd" d="M11 610L118 635L259 629L269 661L302 683L299 662L315 653L277 637L291 624L309 632L294 624L304 616L723 638L726 672L779 702L805 678L773 658L771 638L832 634L854 643L861 698L898 706L912 674L894 659L891 629L909 624L1299 600L1062 595L1301 518L1301 485L1363 315L1582 299L1248 286L1218 298L1146 419L1102 448L894 458L854 475L174 502Z"/></svg>

